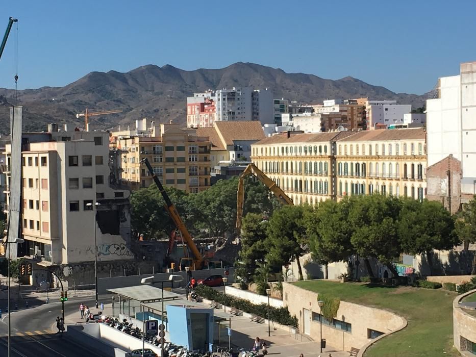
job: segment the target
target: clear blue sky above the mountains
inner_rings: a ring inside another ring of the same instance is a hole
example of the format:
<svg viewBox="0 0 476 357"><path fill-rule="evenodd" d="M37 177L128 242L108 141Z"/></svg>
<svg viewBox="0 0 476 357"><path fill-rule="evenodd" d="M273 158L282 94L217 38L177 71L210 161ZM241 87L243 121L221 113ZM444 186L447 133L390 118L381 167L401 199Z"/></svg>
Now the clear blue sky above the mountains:
<svg viewBox="0 0 476 357"><path fill-rule="evenodd" d="M462 10L460 10L462 9ZM145 64L254 62L422 94L476 60L474 1L4 1L19 19L18 88L64 86ZM15 30L0 60L13 88Z"/></svg>

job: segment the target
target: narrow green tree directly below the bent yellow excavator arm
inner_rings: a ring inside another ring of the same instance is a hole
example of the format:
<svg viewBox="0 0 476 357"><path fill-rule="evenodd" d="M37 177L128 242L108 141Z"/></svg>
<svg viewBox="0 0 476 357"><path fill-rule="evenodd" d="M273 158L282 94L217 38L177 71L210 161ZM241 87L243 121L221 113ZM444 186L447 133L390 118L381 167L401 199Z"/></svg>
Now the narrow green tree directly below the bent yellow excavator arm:
<svg viewBox="0 0 476 357"><path fill-rule="evenodd" d="M257 268L257 262L263 261L266 255L264 242L267 228L268 221L263 219L263 215L248 213L243 218L239 261L244 269L239 272L241 273L240 279L246 284L254 281L253 275Z"/></svg>

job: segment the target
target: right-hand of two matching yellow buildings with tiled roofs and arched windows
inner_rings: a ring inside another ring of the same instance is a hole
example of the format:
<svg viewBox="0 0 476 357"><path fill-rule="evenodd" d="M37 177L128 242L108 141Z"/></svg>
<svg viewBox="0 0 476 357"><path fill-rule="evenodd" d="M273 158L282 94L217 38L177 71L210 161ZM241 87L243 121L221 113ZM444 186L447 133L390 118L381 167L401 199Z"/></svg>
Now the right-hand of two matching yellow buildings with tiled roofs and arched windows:
<svg viewBox="0 0 476 357"><path fill-rule="evenodd" d="M358 132L337 142L337 198L380 192L425 198L422 128Z"/></svg>

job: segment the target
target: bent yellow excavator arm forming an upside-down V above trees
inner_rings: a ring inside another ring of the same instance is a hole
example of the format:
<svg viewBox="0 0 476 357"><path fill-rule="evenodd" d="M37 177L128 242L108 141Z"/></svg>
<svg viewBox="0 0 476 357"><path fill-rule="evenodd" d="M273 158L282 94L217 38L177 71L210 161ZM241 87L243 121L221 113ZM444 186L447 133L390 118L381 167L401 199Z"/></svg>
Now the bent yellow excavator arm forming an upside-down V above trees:
<svg viewBox="0 0 476 357"><path fill-rule="evenodd" d="M236 228L241 228L241 219L243 218L243 205L244 205L244 179L246 176L255 175L256 178L261 181L273 194L276 196L283 205L293 205L292 199L284 193L284 191L276 185L268 176L264 174L255 164L251 163L241 173L238 180L237 191L237 210L236 210Z"/></svg>

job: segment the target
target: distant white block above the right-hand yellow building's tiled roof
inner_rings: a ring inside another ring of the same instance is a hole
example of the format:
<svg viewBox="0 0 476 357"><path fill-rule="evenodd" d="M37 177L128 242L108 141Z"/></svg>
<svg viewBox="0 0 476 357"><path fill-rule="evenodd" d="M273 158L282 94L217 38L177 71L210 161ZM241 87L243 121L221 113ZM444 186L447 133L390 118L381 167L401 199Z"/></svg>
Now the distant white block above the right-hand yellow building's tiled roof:
<svg viewBox="0 0 476 357"><path fill-rule="evenodd" d="M396 100L367 100L367 127L370 130L379 125L403 124L404 115L412 111L410 104L396 104Z"/></svg>

